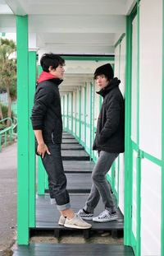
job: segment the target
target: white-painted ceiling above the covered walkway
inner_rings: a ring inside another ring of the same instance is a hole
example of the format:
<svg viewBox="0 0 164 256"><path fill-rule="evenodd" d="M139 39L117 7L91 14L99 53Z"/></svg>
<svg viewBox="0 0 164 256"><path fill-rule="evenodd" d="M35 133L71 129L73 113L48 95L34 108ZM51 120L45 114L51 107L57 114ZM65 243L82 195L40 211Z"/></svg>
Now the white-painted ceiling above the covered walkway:
<svg viewBox="0 0 164 256"><path fill-rule="evenodd" d="M16 16L29 16L29 45L45 52L70 55L113 55L125 33L125 16L134 0L0 0L0 31L16 33ZM62 91L73 91L93 79L105 62L66 61ZM79 79L78 79L79 78ZM67 84L67 85L66 85Z"/></svg>

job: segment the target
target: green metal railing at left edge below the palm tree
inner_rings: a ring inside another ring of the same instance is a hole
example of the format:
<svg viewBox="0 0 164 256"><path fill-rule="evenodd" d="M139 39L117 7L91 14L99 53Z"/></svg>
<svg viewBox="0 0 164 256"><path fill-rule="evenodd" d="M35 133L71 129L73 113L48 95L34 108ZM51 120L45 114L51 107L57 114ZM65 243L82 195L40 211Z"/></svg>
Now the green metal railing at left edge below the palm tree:
<svg viewBox="0 0 164 256"><path fill-rule="evenodd" d="M4 138L4 147L7 147L7 138L9 137L9 142L11 142L11 139L12 139L12 133L13 133L12 119L6 118L6 119L0 120L0 128L1 128L1 123L6 122L7 120L11 121L11 126L0 130L0 152L2 151L2 138Z"/></svg>

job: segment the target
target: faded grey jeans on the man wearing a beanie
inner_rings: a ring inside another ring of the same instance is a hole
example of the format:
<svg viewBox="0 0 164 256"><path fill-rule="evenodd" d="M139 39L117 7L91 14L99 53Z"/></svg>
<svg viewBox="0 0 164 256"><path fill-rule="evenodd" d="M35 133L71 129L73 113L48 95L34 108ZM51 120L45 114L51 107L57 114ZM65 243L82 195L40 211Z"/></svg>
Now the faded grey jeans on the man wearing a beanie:
<svg viewBox="0 0 164 256"><path fill-rule="evenodd" d="M100 196L103 199L105 209L112 209L112 211L115 211L115 205L112 200L111 185L107 182L106 175L118 155L118 153L100 151L98 161L93 168L93 184L89 198L84 206L85 211L93 213L94 208L98 205Z"/></svg>

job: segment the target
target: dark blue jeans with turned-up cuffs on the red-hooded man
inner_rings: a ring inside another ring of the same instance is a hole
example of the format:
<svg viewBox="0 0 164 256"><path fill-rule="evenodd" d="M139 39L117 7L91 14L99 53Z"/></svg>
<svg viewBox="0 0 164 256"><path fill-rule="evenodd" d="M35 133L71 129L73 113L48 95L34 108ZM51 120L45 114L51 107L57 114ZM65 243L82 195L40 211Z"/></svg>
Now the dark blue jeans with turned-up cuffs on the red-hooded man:
<svg viewBox="0 0 164 256"><path fill-rule="evenodd" d="M71 207L70 197L66 190L66 175L62 165L61 144L47 144L51 155L43 157L42 162L48 174L48 187L51 203L57 204L59 211Z"/></svg>

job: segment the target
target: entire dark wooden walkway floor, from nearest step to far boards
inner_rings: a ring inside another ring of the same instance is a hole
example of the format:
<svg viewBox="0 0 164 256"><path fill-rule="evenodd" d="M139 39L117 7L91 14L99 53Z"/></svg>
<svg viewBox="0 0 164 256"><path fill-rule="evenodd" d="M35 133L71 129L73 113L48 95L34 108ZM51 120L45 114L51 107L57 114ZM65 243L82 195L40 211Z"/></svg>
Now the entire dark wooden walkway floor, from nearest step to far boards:
<svg viewBox="0 0 164 256"><path fill-rule="evenodd" d="M89 197L91 188L91 173L94 163L89 161L89 155L84 148L68 133L62 135L62 160L67 178L67 189L71 198L71 207L75 212L84 207L84 203ZM113 199L115 200L114 196ZM100 200L95 209L94 215L98 216L103 212L103 202ZM88 221L92 224L90 230L81 230L84 232L84 238L89 238L90 233L97 230L111 230L112 237L123 232L124 218L118 209L118 219L106 223ZM36 226L30 229L30 235L36 235L37 232L50 230L54 236L60 237L61 232L68 230L64 226L58 225L59 212L57 207L50 204L49 194L36 196ZM69 232L75 232L75 229L69 229ZM121 244L30 244L29 246L18 246L14 256L133 256L130 247Z"/></svg>

